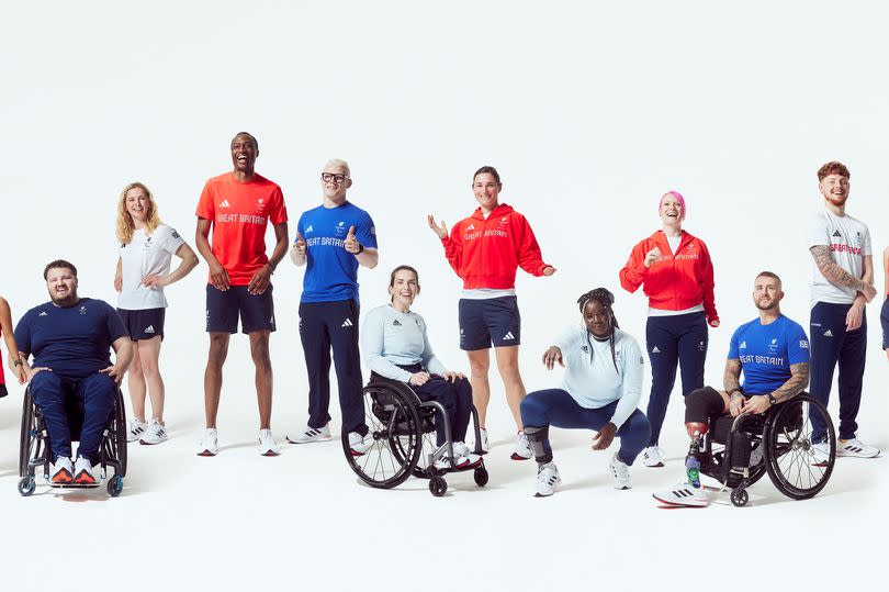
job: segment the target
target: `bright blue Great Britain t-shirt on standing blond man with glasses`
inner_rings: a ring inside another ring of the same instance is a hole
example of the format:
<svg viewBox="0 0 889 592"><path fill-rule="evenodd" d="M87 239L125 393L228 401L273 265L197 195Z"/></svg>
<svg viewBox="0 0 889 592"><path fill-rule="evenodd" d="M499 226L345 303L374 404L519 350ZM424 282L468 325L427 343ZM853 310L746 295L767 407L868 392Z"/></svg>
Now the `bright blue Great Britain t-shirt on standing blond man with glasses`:
<svg viewBox="0 0 889 592"><path fill-rule="evenodd" d="M358 259L342 246L349 227L364 247L376 248L376 230L370 214L345 202L319 205L300 216L296 230L306 243L306 270L302 302L358 302Z"/></svg>

